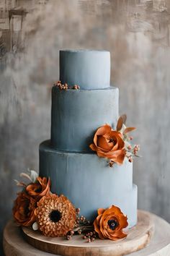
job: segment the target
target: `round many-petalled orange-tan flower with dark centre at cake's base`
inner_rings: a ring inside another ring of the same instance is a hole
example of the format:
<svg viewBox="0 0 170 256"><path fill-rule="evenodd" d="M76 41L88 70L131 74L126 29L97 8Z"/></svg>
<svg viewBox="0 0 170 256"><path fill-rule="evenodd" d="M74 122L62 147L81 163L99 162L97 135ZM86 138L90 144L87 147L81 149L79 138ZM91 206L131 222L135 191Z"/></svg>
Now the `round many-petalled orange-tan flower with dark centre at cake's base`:
<svg viewBox="0 0 170 256"><path fill-rule="evenodd" d="M67 197L45 195L37 202L37 224L45 236L66 236L76 223L76 209Z"/></svg>

